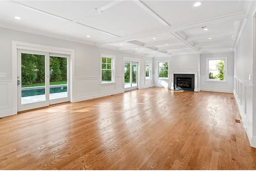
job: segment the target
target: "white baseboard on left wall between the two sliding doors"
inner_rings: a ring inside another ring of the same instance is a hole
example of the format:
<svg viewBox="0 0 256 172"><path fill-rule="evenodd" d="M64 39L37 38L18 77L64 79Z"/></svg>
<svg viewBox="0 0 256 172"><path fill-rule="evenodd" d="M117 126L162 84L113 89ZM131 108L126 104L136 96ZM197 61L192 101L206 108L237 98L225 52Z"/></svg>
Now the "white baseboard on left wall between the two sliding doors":
<svg viewBox="0 0 256 172"><path fill-rule="evenodd" d="M118 90L113 90L113 91L101 91L97 93L92 93L92 94L86 94L81 97L74 97L73 102L80 102L84 100L89 100L93 98L99 98L99 97L104 97L104 96L110 96L113 94L119 94L119 93L124 93L124 89L118 89Z"/></svg>

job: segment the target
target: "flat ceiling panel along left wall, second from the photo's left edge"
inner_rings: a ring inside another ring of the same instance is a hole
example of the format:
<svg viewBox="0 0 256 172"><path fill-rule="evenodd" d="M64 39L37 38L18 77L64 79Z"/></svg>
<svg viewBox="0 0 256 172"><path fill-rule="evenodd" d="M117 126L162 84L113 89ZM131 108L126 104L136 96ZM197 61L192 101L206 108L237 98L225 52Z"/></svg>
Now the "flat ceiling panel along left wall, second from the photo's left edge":
<svg viewBox="0 0 256 172"><path fill-rule="evenodd" d="M116 36L108 35L104 32L74 22L68 23L67 25L62 26L52 32L62 35L68 35L74 38L85 39L92 42L116 38ZM91 37L88 38L87 35Z"/></svg>

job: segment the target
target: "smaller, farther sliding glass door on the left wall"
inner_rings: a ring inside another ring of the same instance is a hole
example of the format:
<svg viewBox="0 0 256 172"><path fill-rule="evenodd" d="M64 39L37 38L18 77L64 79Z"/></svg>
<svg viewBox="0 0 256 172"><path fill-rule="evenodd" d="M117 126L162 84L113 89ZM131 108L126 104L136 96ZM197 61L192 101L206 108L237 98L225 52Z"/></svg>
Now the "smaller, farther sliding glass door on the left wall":
<svg viewBox="0 0 256 172"><path fill-rule="evenodd" d="M132 61L124 62L124 90L138 88L138 63Z"/></svg>

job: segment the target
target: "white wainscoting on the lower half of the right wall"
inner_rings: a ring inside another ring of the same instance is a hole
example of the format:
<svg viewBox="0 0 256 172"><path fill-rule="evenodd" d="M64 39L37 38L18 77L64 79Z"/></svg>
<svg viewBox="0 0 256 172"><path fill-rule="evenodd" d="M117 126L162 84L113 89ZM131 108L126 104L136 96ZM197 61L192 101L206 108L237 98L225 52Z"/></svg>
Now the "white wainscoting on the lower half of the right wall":
<svg viewBox="0 0 256 172"><path fill-rule="evenodd" d="M243 80L234 77L234 97L242 123L246 130L248 139L252 147L256 147L256 140L252 136L252 85L244 82Z"/></svg>

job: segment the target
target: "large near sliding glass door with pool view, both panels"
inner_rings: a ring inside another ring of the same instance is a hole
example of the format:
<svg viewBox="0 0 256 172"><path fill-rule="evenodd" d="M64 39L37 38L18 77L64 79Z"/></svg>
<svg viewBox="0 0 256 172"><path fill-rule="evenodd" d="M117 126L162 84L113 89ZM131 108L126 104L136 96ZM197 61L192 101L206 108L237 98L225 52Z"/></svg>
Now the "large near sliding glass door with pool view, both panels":
<svg viewBox="0 0 256 172"><path fill-rule="evenodd" d="M69 101L69 56L18 50L18 111Z"/></svg>

